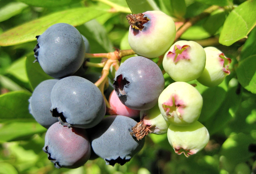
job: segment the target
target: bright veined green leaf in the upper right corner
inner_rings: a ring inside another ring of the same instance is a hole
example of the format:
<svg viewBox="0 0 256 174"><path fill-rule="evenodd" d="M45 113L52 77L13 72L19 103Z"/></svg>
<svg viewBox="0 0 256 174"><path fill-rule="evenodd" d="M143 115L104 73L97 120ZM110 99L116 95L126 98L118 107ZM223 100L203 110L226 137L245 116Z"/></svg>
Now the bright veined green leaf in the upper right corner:
<svg viewBox="0 0 256 174"><path fill-rule="evenodd" d="M233 9L224 22L219 43L230 46L247 37L256 25L256 1L248 0Z"/></svg>

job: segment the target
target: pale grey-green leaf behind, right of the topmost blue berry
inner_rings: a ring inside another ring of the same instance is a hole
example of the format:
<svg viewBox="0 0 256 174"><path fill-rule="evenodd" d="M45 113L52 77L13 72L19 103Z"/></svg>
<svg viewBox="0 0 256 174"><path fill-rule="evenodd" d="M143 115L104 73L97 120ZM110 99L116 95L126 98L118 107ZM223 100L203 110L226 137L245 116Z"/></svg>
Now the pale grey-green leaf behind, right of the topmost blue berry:
<svg viewBox="0 0 256 174"><path fill-rule="evenodd" d="M105 51L114 51L114 46L108 38L105 28L97 20L91 20L81 26L77 26L77 29L89 40L89 42L90 40L95 40Z"/></svg>

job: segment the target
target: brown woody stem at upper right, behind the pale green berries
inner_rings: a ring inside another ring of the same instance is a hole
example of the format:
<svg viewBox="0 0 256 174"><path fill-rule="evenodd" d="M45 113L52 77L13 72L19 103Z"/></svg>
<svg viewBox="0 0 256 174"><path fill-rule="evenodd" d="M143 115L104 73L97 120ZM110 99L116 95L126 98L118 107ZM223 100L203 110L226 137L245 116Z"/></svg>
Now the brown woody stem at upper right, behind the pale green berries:
<svg viewBox="0 0 256 174"><path fill-rule="evenodd" d="M180 38L180 36L189 28L191 27L194 23L196 23L197 21L199 21L200 19L203 19L207 16L210 15L210 13L212 13L213 11L217 10L219 8L219 6L216 6L216 5L212 5L210 6L209 8L205 9L203 11L203 13L189 19L182 27L180 27L180 29L177 31L176 33L176 37L175 37L175 40L176 41L177 39Z"/></svg>

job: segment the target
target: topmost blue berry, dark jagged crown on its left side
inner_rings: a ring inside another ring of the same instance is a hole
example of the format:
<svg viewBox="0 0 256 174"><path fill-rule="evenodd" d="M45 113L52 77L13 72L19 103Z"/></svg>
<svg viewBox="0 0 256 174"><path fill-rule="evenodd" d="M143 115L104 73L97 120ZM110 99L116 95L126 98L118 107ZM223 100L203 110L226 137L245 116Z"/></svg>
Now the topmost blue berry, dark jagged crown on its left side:
<svg viewBox="0 0 256 174"><path fill-rule="evenodd" d="M72 25L54 24L36 38L35 58L46 74L64 78L82 66L86 48L81 34Z"/></svg>

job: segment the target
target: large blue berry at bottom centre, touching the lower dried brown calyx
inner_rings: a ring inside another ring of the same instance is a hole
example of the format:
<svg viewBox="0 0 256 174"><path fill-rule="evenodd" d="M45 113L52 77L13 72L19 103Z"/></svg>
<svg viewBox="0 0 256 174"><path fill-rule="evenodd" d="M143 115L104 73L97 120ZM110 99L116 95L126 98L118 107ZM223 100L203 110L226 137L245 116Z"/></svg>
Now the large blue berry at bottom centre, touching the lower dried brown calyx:
<svg viewBox="0 0 256 174"><path fill-rule="evenodd" d="M137 122L129 117L113 115L105 117L91 128L91 147L95 154L108 165L124 165L144 146L144 139L137 141L131 135L131 128Z"/></svg>

